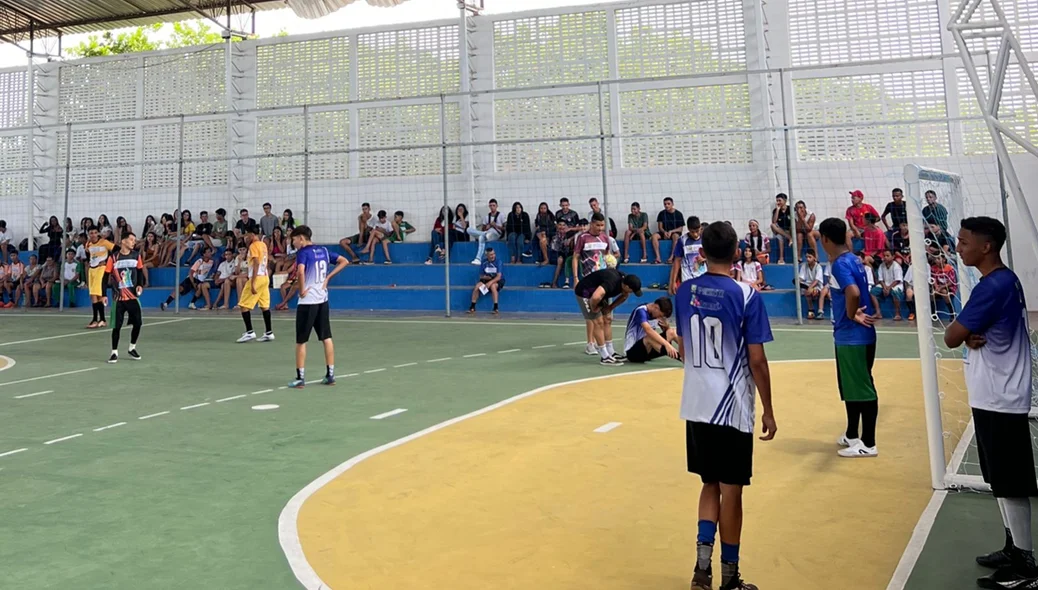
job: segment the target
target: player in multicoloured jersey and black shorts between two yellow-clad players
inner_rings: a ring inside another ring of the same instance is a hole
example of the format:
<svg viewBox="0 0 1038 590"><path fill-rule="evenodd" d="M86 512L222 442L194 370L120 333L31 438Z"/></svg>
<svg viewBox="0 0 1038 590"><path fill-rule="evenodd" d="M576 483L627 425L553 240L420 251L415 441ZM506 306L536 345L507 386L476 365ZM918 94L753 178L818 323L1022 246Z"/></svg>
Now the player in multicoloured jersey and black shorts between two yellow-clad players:
<svg viewBox="0 0 1038 590"><path fill-rule="evenodd" d="M109 363L119 360L119 332L122 330L122 318L129 316L130 325L130 358L140 360L137 352L137 339L140 338L140 326L143 322L140 313L140 297L144 290L144 264L140 260L140 252L134 249L137 244L137 236L132 232L122 235L119 241L119 249L108 257L105 266L105 273L111 281L115 291L115 323L112 325L112 355L108 357Z"/></svg>

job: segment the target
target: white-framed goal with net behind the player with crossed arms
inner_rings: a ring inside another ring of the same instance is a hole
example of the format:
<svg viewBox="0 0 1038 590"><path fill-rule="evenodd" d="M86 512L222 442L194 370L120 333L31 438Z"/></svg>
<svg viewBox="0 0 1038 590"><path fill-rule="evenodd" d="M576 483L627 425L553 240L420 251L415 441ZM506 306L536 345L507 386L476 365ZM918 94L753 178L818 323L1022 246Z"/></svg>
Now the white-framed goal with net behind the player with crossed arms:
<svg viewBox="0 0 1038 590"><path fill-rule="evenodd" d="M908 165L905 183L911 251L910 269L905 274L910 272L912 277L933 487L989 491L981 477L965 386L963 358L967 351L965 347L947 348L944 332L980 279L980 273L962 264L955 253L959 223L965 217L981 215L1002 220L1002 207L996 197L971 197L968 180L963 182L954 172ZM1031 379L1038 392L1036 342L1032 329ZM1038 398L1032 397L1031 406L1034 448L1038 446Z"/></svg>

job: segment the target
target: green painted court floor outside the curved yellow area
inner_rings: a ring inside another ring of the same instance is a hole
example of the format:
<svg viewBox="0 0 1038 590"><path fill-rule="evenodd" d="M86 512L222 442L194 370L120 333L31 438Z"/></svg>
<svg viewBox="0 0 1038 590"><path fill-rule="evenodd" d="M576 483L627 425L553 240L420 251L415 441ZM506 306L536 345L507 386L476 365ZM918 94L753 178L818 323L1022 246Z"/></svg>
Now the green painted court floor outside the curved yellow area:
<svg viewBox="0 0 1038 590"><path fill-rule="evenodd" d="M238 345L237 316L147 314L143 360L114 366L86 321L0 315L16 361L0 371L3 588L298 587L278 513L329 468L538 386L639 369L583 355L572 320L336 319L339 384L293 391L291 316L276 342ZM827 326L775 339L772 359L831 357ZM883 330L879 356L918 356L914 334ZM316 343L308 369L320 378Z"/></svg>

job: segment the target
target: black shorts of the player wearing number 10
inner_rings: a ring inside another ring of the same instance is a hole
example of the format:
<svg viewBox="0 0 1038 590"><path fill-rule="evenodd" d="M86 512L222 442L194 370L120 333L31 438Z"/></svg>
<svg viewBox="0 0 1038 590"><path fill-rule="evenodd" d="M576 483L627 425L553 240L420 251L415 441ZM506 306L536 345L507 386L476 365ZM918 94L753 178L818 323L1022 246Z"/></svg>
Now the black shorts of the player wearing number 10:
<svg viewBox="0 0 1038 590"><path fill-rule="evenodd" d="M685 422L688 473L703 483L749 485L754 475L754 434L731 426Z"/></svg>

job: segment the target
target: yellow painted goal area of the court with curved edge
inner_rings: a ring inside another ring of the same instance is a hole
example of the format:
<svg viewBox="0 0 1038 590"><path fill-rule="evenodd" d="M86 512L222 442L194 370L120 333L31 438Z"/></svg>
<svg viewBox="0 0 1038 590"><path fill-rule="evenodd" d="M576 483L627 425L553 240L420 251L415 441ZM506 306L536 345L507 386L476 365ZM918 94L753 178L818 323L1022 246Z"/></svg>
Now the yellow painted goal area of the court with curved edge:
<svg viewBox="0 0 1038 590"><path fill-rule="evenodd" d="M778 434L756 441L743 576L884 588L931 494L919 361L876 364L876 459L836 454L832 361L771 371ZM306 559L336 590L687 589L701 484L680 388L678 370L562 385L371 457L303 505Z"/></svg>

